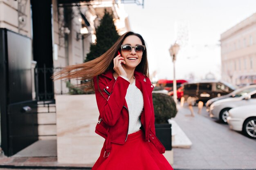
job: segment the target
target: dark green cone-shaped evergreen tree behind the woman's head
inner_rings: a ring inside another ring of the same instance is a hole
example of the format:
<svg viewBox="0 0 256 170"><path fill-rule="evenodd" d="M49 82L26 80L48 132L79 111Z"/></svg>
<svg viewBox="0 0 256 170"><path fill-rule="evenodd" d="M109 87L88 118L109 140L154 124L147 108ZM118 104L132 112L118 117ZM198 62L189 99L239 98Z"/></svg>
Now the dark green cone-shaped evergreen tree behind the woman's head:
<svg viewBox="0 0 256 170"><path fill-rule="evenodd" d="M87 54L85 62L101 56L108 51L119 38L112 15L108 13L106 9L100 25L96 29L96 38L96 44L91 44L90 52Z"/></svg>

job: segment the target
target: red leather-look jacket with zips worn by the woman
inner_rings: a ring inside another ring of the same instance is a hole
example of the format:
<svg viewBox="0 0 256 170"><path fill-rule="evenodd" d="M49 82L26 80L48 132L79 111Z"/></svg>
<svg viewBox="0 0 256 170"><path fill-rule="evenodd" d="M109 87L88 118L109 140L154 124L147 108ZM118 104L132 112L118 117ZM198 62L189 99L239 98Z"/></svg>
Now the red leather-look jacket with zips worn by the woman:
<svg viewBox="0 0 256 170"><path fill-rule="evenodd" d="M143 94L144 108L141 113L141 125L145 132L145 141L152 142L160 153L165 152L162 143L155 135L155 115L152 100L153 85L150 79L134 72L135 86ZM112 70L93 78L97 105L99 108L99 121L95 132L106 139L106 152L109 155L111 143L124 144L128 136L129 111L125 100L127 88L130 84L122 77L113 76ZM105 157L105 155L104 155Z"/></svg>

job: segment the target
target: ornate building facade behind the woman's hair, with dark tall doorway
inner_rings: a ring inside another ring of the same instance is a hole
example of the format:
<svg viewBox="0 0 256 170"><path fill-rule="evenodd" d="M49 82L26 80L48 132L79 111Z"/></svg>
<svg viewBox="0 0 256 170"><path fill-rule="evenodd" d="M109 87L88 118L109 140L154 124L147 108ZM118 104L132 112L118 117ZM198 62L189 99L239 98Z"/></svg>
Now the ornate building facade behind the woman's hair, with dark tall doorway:
<svg viewBox="0 0 256 170"><path fill-rule="evenodd" d="M33 100L54 100L54 94L68 92L65 81L53 83L50 77L61 67L83 63L90 44L96 40L96 28L104 9L113 13L119 35L130 31L123 4L115 0L74 0L74 3L72 0L0 0L0 28L25 35L31 40ZM39 81L34 73L37 73ZM71 83L79 82L72 80ZM47 93L40 97L40 90ZM35 120L38 139L56 139L55 109L43 109L38 107Z"/></svg>

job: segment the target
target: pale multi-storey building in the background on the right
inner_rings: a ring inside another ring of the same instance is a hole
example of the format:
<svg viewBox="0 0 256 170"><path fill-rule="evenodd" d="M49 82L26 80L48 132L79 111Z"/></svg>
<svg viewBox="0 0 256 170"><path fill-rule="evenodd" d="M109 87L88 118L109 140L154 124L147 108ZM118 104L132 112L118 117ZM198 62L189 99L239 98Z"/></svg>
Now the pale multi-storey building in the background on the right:
<svg viewBox="0 0 256 170"><path fill-rule="evenodd" d="M235 84L256 84L256 13L220 36L222 79Z"/></svg>

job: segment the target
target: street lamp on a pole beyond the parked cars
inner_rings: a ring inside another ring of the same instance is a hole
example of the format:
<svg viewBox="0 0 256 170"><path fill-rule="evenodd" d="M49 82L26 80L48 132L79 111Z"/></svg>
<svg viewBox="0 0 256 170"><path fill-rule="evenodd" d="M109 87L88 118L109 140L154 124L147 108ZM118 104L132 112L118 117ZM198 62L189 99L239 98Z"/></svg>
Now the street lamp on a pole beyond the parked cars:
<svg viewBox="0 0 256 170"><path fill-rule="evenodd" d="M177 83L175 79L175 61L176 61L176 55L179 49L180 49L180 45L177 44L176 42L169 49L170 55L173 58L173 99L176 104L177 104Z"/></svg>

